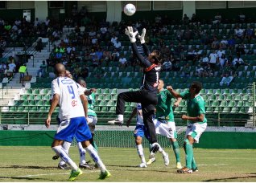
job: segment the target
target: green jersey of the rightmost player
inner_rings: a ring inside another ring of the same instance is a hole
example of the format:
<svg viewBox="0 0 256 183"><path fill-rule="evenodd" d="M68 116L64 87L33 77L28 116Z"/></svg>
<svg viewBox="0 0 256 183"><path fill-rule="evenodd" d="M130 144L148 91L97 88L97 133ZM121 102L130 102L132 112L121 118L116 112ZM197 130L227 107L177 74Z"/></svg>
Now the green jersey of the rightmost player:
<svg viewBox="0 0 256 183"><path fill-rule="evenodd" d="M201 97L200 95L197 95L194 99L191 99L189 91L184 91L180 93L180 96L182 97L182 99L187 100L188 116L197 117L197 116L200 116L200 114L205 114L203 97ZM189 123L204 124L204 123L207 123L207 119L205 118L205 115L204 115L203 122L189 121Z"/></svg>

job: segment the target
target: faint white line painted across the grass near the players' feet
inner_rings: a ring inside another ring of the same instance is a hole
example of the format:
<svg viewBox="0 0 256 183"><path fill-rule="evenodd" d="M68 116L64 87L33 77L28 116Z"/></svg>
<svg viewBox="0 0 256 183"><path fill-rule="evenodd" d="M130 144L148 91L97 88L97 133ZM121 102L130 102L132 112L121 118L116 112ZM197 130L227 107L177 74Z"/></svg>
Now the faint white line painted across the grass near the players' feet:
<svg viewBox="0 0 256 183"><path fill-rule="evenodd" d="M199 165L199 166L219 166L219 165L228 165L228 164L213 164L213 165ZM162 169L163 167L154 167L154 169ZM109 169L109 172L119 171L119 170L138 170L142 168L127 168L127 169ZM147 169L144 169L147 171ZM151 170L151 169L150 169ZM100 173L100 170L90 170L83 173ZM44 174L34 174L34 175L23 175L23 176L14 176L14 177L40 177L40 176L54 176L54 175L68 175L70 173L44 173Z"/></svg>

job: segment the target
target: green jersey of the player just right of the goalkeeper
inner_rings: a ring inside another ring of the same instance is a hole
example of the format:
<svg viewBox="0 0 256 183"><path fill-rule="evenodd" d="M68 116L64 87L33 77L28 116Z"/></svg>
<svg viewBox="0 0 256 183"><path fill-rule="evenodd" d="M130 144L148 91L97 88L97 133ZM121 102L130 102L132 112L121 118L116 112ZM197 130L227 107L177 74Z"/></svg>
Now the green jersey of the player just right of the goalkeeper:
<svg viewBox="0 0 256 183"><path fill-rule="evenodd" d="M163 89L158 94L158 104L156 105L155 117L159 120L174 122L171 99L174 98L170 91Z"/></svg>

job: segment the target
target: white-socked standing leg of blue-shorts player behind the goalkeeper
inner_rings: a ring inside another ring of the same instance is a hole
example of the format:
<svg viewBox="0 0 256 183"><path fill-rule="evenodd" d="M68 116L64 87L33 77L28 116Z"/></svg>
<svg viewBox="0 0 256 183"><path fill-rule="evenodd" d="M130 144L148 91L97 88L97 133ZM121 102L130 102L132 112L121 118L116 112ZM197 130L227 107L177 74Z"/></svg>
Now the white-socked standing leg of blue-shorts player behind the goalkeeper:
<svg viewBox="0 0 256 183"><path fill-rule="evenodd" d="M143 125L137 125L136 128L134 129L134 137L135 137L135 144L137 148L137 153L138 157L141 159L142 163L138 165L141 168L146 168L146 160L143 152L143 147L142 147L142 138L144 136L144 129L145 128Z"/></svg>

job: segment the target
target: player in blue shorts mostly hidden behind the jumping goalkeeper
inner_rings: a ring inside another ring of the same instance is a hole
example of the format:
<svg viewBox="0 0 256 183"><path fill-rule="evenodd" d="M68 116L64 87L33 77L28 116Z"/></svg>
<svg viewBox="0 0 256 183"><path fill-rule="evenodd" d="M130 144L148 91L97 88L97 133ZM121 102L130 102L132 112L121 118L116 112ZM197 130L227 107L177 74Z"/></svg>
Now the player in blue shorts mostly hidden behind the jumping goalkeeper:
<svg viewBox="0 0 256 183"><path fill-rule="evenodd" d="M136 113L137 113L137 116L136 116L136 127L134 129L134 137L135 137L135 144L136 144L136 148L137 148L138 157L140 157L141 161L142 161L142 163L138 166L141 168L146 168L147 165L146 165L146 160L145 160L145 156L143 153L142 138L145 136L148 140L149 135L148 135L146 127L143 123L142 104L138 103L137 108L134 108L134 111L130 115L129 120L127 120L127 122L126 122L126 126L127 127L130 126L130 120L136 115ZM160 145L159 145L159 152L162 153L162 155L163 155L164 165L166 165L166 166L169 165L168 154L165 153L165 151L163 150L163 148Z"/></svg>

